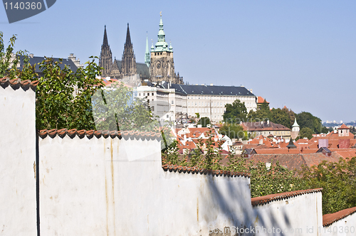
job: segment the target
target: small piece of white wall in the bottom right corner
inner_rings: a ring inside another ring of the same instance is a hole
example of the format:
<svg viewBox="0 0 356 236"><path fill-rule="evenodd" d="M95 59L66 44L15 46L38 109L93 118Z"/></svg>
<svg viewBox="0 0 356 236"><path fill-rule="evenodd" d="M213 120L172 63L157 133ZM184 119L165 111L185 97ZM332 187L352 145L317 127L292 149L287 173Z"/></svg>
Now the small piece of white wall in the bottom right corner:
<svg viewBox="0 0 356 236"><path fill-rule="evenodd" d="M356 213L333 222L328 227L322 227L322 236L355 236L356 235Z"/></svg>

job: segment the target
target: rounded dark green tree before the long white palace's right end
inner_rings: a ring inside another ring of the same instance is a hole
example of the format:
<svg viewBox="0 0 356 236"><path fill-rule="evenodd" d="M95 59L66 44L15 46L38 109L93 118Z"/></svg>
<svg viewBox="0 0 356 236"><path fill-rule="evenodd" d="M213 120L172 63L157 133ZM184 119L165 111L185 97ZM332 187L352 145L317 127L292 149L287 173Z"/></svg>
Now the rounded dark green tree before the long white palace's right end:
<svg viewBox="0 0 356 236"><path fill-rule="evenodd" d="M247 109L244 102L235 100L232 104L226 104L225 108L226 111L223 115L225 122L240 124L246 120Z"/></svg>

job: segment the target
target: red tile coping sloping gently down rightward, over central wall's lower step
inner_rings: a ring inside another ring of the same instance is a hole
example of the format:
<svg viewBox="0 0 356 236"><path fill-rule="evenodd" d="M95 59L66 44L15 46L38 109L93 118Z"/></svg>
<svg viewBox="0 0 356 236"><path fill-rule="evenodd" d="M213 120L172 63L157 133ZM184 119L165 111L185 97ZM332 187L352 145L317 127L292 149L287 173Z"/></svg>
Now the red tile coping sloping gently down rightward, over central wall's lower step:
<svg viewBox="0 0 356 236"><path fill-rule="evenodd" d="M190 166L177 166L177 165L162 165L162 168L164 171L169 171L169 172L177 172L178 173L200 173L201 175L204 173L204 175L212 175L212 176L227 176L227 177L239 177L239 176L244 176L247 178L250 178L249 173L242 173L242 172L234 172L234 171L212 171L208 170L206 168L197 168L195 166L190 167Z"/></svg>

